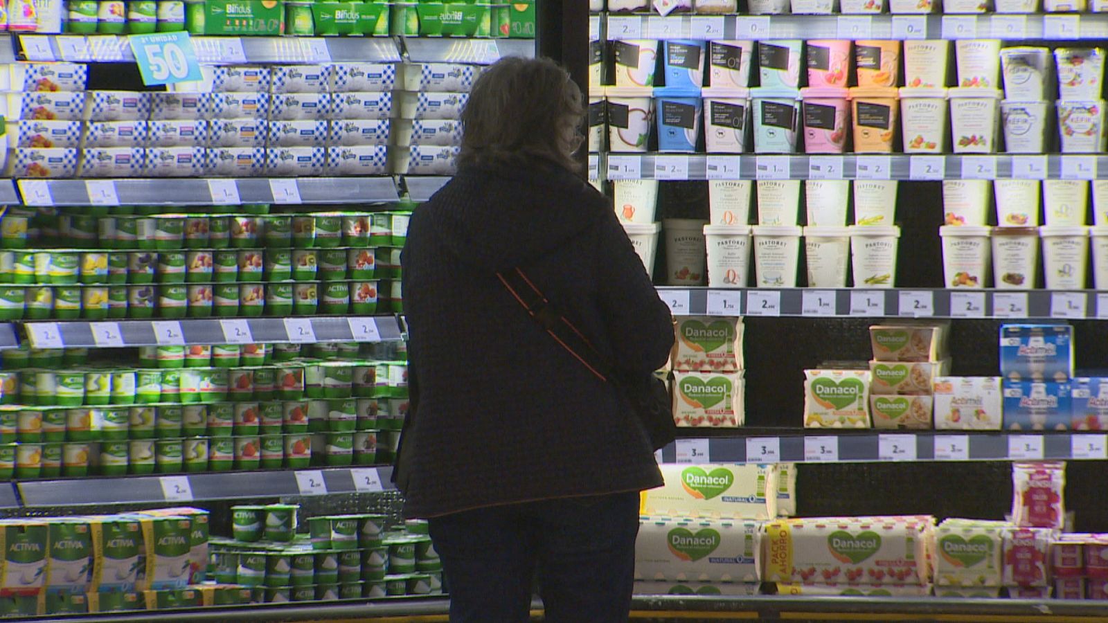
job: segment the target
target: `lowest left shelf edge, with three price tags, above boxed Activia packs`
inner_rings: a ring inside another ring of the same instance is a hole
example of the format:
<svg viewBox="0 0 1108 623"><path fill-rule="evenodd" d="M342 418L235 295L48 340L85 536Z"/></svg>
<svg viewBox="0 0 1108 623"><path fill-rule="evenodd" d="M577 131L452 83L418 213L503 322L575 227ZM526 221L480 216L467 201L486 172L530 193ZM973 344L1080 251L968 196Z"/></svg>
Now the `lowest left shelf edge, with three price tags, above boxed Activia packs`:
<svg viewBox="0 0 1108 623"><path fill-rule="evenodd" d="M392 489L391 479L392 468L379 467L69 478L29 480L16 487L30 508L370 493Z"/></svg>

